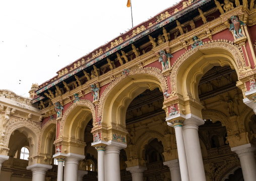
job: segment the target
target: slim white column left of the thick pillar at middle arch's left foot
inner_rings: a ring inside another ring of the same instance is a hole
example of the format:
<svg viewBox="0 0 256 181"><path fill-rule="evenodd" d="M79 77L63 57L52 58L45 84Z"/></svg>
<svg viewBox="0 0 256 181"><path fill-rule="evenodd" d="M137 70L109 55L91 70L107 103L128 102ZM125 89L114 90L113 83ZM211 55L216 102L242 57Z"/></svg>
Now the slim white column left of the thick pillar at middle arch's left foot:
<svg viewBox="0 0 256 181"><path fill-rule="evenodd" d="M98 152L98 181L105 180L105 169L104 169L104 155L106 145L96 146L95 149Z"/></svg>

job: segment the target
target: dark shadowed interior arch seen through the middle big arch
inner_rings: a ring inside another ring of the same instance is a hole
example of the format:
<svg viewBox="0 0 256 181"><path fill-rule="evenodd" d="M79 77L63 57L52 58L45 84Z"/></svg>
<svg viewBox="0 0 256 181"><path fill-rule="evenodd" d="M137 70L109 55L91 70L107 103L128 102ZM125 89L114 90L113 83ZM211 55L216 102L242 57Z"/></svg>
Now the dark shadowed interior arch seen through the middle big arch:
<svg viewBox="0 0 256 181"><path fill-rule="evenodd" d="M135 142L134 150L136 151L138 158L143 157L143 150L145 149L145 146L149 143L149 141L152 140L152 138L156 138L158 141L161 141L163 148L168 147L164 135L156 131L146 131Z"/></svg>

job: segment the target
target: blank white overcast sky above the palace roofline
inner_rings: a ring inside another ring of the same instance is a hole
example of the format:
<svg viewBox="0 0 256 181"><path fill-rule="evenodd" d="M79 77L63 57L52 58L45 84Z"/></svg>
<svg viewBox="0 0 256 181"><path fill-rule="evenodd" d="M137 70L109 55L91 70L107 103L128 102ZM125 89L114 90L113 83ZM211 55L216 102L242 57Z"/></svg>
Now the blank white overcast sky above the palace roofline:
<svg viewBox="0 0 256 181"><path fill-rule="evenodd" d="M134 26L174 0L133 0ZM3 0L0 2L0 89L29 96L32 83L51 79L132 27L127 0ZM20 81L21 80L21 81Z"/></svg>

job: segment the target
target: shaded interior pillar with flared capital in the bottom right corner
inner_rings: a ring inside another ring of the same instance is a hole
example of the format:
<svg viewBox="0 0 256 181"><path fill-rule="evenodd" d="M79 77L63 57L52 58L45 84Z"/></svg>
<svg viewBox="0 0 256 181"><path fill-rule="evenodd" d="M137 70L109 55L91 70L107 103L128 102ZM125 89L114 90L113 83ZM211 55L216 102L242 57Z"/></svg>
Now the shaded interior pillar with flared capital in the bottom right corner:
<svg viewBox="0 0 256 181"><path fill-rule="evenodd" d="M250 143L231 148L231 151L235 152L240 159L244 181L256 180L255 150L256 146Z"/></svg>

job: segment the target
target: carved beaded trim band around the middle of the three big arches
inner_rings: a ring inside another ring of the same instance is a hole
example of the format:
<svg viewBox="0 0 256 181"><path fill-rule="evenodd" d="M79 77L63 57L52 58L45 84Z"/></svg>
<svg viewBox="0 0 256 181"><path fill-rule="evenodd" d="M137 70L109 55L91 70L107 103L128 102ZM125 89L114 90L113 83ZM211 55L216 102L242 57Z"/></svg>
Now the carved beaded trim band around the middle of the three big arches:
<svg viewBox="0 0 256 181"><path fill-rule="evenodd" d="M162 73L162 71L158 68L151 68L151 67L147 67L144 69L137 69L137 70L133 70L131 72L129 72L129 76L131 75L151 75L155 78L157 78L157 80L160 82L161 84L161 88L162 90L168 89L168 84L167 84L167 77L164 76ZM117 78L115 81L113 81L112 83L110 83L107 88L104 90L104 92L102 93L102 95L100 96L99 99L99 104L98 104L98 116L101 115L102 116L102 111L103 111L103 106L105 104L106 98L109 96L111 90L121 81L123 81L126 78L125 75L120 76L119 78Z"/></svg>

